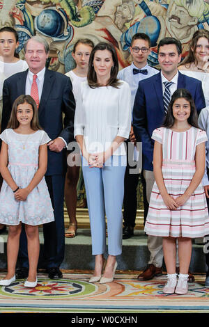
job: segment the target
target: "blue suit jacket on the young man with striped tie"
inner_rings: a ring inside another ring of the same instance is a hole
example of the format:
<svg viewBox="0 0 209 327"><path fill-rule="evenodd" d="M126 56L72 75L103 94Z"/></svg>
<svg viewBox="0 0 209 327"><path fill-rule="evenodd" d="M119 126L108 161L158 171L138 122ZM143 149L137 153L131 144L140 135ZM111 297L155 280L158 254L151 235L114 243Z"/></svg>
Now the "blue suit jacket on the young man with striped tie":
<svg viewBox="0 0 209 327"><path fill-rule="evenodd" d="M198 113L206 106L201 81L178 72L177 88L186 88L192 94ZM137 142L142 142L143 169L153 170L153 130L162 126L164 106L161 73L139 82L134 100L133 126Z"/></svg>

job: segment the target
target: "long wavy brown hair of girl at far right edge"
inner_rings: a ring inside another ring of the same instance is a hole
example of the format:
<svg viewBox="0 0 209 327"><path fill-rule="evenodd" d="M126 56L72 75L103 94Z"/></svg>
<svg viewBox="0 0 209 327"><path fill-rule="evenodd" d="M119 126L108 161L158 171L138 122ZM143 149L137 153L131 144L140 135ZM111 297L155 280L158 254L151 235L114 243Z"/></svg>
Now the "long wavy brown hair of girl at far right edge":
<svg viewBox="0 0 209 327"><path fill-rule="evenodd" d="M209 31L206 29L199 29L194 33L192 36L192 40L189 45L189 53L187 56L183 59L183 61L179 65L185 65L187 68L190 67L191 63L194 63L197 65L197 61L195 58L195 51L196 51L196 45L199 40L199 38L206 38L209 42Z"/></svg>

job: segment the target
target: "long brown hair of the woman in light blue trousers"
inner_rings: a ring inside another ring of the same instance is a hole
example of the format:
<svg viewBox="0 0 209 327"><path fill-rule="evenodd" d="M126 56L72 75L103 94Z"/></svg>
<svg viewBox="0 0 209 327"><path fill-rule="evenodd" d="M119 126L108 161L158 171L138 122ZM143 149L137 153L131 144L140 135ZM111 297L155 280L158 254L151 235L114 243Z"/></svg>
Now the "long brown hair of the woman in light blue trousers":
<svg viewBox="0 0 209 327"><path fill-rule="evenodd" d="M114 48L114 46L107 42L98 43L98 45L95 45L95 47L91 51L91 55L90 55L90 58L88 61L88 75L87 75L88 85L91 88L100 87L100 83L98 83L98 80L97 80L97 74L95 73L95 70L93 67L93 59L95 56L95 52L98 50L108 50L111 53L112 60L114 62L114 67L111 69L110 79L107 82L107 86L113 86L114 88L118 88L121 85L121 82L117 79L118 56L117 56L116 49Z"/></svg>

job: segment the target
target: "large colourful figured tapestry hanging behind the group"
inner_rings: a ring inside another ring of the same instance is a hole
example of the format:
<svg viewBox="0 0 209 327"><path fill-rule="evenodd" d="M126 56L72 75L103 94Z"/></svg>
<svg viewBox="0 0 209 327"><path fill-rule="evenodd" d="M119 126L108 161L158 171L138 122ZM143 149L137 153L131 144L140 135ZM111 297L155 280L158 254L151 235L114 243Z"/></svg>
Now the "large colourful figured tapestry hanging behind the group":
<svg viewBox="0 0 209 327"><path fill-rule="evenodd" d="M160 39L178 38L185 56L194 32L209 29L209 0L0 0L0 27L6 25L18 32L20 58L24 58L27 39L33 35L46 38L51 49L49 69L61 73L75 67L71 53L79 38L89 38L95 44L111 42L120 69L130 65L130 42L138 32L150 36L148 63L155 66ZM82 175L77 193L77 206L86 207ZM143 209L140 182L138 197L138 209Z"/></svg>

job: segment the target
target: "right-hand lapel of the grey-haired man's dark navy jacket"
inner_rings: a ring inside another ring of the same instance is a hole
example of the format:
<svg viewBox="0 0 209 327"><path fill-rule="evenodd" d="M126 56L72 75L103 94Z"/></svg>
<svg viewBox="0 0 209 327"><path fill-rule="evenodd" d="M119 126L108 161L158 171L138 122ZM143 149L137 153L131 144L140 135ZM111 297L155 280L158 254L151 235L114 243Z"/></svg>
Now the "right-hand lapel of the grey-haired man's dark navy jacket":
<svg viewBox="0 0 209 327"><path fill-rule="evenodd" d="M40 98L40 105L38 108L38 114L40 115L40 113L43 111L43 109L45 108L45 103L47 102L47 99L50 95L50 92L52 90L52 85L54 83L54 75L53 72L51 72L50 70L45 71L45 79L44 79L44 83L42 86L42 93L41 93L41 98Z"/></svg>

